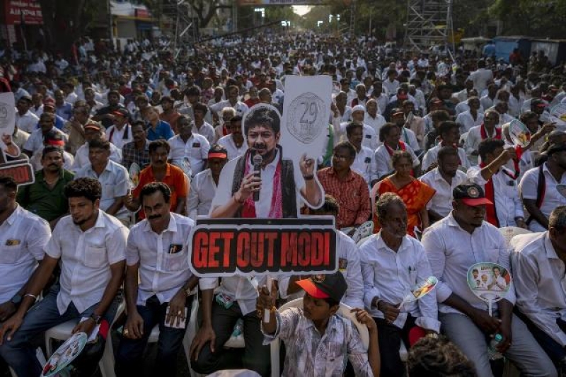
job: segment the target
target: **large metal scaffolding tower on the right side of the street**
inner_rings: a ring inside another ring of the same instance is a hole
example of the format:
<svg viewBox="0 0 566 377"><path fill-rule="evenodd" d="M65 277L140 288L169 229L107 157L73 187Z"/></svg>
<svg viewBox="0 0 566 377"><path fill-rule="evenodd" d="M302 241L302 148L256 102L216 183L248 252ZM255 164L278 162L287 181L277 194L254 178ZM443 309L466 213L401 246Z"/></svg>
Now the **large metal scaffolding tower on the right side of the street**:
<svg viewBox="0 0 566 377"><path fill-rule="evenodd" d="M418 51L444 45L454 51L450 38L453 0L408 0L405 47Z"/></svg>

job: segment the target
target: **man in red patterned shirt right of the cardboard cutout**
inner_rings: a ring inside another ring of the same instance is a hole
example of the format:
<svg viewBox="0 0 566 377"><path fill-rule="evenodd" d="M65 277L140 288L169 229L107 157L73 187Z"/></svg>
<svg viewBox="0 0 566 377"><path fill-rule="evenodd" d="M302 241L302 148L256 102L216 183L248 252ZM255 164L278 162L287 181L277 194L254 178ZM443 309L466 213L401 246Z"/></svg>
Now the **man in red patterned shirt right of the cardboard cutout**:
<svg viewBox="0 0 566 377"><path fill-rule="evenodd" d="M355 157L354 146L343 141L334 147L333 166L317 172L324 192L334 197L340 205L341 211L336 218L337 229L360 226L368 221L371 214L368 185L362 175L351 169Z"/></svg>

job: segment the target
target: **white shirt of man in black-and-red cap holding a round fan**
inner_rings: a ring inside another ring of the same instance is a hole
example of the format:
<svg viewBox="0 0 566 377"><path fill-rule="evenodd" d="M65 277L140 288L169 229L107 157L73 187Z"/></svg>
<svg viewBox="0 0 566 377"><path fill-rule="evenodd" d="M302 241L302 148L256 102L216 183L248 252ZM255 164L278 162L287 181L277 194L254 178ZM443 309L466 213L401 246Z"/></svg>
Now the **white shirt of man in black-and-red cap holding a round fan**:
<svg viewBox="0 0 566 377"><path fill-rule="evenodd" d="M487 303L475 296L468 286L468 269L479 262L492 262L510 268L509 253L499 229L483 221L470 234L458 225L451 213L424 231L422 245L427 252L432 275L439 280L436 288L439 312L461 313L444 304L453 293L470 306L487 311ZM513 285L505 299L515 303ZM497 310L497 303L492 304L492 310Z"/></svg>

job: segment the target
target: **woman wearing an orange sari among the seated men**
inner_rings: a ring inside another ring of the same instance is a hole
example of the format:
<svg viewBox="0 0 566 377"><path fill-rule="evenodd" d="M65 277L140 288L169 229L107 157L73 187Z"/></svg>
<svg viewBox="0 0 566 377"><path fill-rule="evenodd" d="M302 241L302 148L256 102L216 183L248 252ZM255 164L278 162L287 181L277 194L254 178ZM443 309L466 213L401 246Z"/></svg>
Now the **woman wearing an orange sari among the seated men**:
<svg viewBox="0 0 566 377"><path fill-rule="evenodd" d="M408 151L395 151L391 156L394 173L374 185L371 190L371 208L374 210L374 233L381 225L375 211L376 197L385 192L399 195L407 207L407 234L415 237L415 228L423 231L429 226L427 203L436 192L432 187L411 176L412 157Z"/></svg>

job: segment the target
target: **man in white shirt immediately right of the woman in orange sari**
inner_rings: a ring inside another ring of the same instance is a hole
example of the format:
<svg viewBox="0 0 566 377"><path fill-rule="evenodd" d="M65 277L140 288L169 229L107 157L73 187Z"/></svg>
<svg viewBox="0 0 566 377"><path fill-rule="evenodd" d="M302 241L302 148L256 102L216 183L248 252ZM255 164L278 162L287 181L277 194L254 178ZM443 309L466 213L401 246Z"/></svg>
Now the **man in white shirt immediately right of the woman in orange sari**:
<svg viewBox="0 0 566 377"><path fill-rule="evenodd" d="M427 203L427 211L431 222L439 221L452 211L452 191L454 187L468 180L468 176L459 170L460 157L452 146L443 146L437 154L438 166L419 179L432 187L436 192Z"/></svg>

